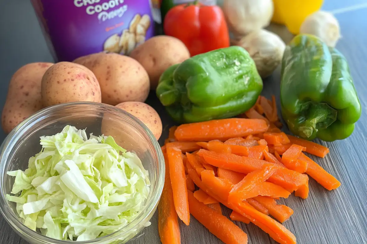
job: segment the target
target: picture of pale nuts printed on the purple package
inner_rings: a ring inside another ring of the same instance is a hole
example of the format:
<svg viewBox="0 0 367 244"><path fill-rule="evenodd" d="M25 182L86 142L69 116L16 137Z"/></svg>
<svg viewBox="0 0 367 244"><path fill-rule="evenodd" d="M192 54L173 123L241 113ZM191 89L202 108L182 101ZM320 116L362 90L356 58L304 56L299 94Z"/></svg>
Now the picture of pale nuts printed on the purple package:
<svg viewBox="0 0 367 244"><path fill-rule="evenodd" d="M146 32L150 27L149 15L136 14L132 18L129 28L122 31L121 35L113 34L103 44L105 52L121 53L129 55L135 47L146 40Z"/></svg>

